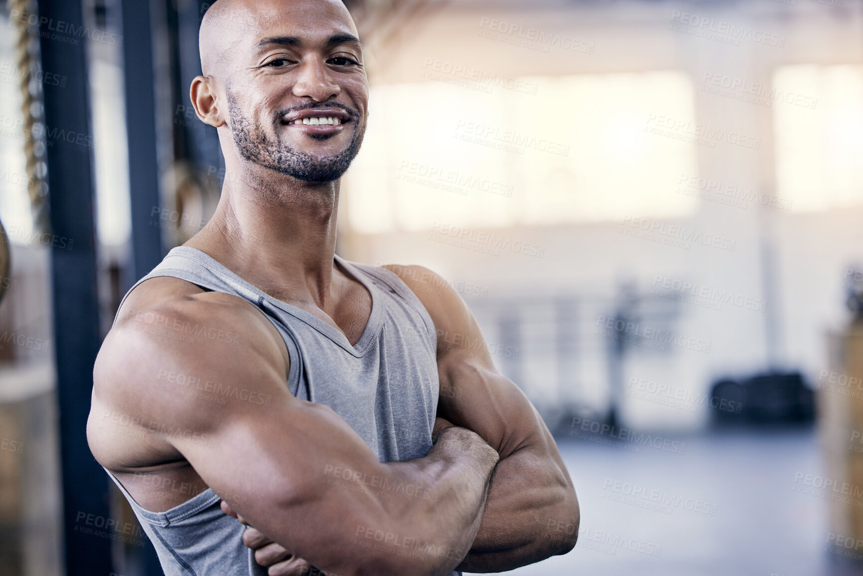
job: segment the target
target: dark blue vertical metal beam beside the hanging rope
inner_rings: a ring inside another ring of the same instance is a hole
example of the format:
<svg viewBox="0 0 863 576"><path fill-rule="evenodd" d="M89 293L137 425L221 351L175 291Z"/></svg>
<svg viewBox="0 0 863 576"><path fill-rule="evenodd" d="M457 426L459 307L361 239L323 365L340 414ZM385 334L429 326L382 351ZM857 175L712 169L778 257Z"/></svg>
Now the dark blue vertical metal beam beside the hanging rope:
<svg viewBox="0 0 863 576"><path fill-rule="evenodd" d="M110 517L108 477L93 459L86 439L93 363L100 342L93 226L96 143L86 41L98 33L85 28L81 0L39 0L38 5L42 69L68 79L65 87L48 82L44 87L66 573L107 575L111 541L86 531L96 532L96 522L104 526Z"/></svg>

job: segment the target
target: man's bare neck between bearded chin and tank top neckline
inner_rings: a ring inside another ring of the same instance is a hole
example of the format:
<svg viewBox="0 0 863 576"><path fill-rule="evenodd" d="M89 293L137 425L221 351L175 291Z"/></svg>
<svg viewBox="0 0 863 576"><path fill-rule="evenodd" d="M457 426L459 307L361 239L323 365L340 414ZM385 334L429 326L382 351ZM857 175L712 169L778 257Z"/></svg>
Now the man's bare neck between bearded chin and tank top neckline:
<svg viewBox="0 0 863 576"><path fill-rule="evenodd" d="M313 302L326 310L338 193L338 182L226 179L213 218L186 245L280 300Z"/></svg>

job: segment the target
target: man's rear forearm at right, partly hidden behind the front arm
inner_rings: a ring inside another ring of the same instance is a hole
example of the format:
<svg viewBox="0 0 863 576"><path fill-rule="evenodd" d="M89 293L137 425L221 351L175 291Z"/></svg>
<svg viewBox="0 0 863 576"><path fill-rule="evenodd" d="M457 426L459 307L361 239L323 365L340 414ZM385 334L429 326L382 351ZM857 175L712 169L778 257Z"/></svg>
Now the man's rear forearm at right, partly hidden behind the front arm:
<svg viewBox="0 0 863 576"><path fill-rule="evenodd" d="M480 529L459 570L503 572L572 549L578 504L556 464L530 448L501 459Z"/></svg>

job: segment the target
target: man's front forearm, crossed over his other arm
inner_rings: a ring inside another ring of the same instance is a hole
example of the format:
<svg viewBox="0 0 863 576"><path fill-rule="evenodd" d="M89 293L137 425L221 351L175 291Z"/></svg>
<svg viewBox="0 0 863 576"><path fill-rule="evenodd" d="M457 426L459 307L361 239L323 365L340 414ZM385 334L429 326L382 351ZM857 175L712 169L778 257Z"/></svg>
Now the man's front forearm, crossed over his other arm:
<svg viewBox="0 0 863 576"><path fill-rule="evenodd" d="M482 520L498 453L482 438L452 427L421 459L334 466L309 509L306 528L291 510L261 522L264 535L325 573L345 576L444 576L468 554ZM301 516L300 516L301 517ZM257 522L252 521L252 524ZM333 554L338 550L337 554Z"/></svg>

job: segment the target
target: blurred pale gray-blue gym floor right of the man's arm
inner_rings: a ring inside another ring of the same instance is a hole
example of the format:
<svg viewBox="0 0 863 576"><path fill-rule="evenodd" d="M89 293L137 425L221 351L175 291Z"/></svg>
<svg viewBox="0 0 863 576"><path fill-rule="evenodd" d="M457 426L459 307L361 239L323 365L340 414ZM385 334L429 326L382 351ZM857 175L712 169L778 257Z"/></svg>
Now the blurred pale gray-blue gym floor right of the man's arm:
<svg viewBox="0 0 863 576"><path fill-rule="evenodd" d="M860 573L828 553L828 502L794 491L802 484L795 483L799 472L823 476L814 429L673 440L685 442L683 453L558 439L581 504L578 544L570 554L507 574ZM627 497L634 491L639 495ZM651 503L640 494L652 491L665 498L664 510L639 506Z"/></svg>

